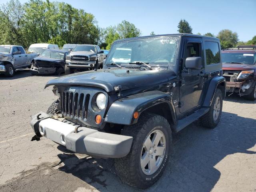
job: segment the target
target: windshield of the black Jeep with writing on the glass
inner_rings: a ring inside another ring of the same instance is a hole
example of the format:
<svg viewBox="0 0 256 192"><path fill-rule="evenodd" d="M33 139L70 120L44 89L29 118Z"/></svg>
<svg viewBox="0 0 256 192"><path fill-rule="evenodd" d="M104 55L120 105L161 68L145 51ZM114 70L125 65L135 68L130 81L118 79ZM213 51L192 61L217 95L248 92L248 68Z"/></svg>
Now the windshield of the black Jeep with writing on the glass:
<svg viewBox="0 0 256 192"><path fill-rule="evenodd" d="M144 62L154 65L175 65L178 37L142 38L115 42L106 64Z"/></svg>

